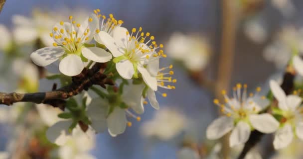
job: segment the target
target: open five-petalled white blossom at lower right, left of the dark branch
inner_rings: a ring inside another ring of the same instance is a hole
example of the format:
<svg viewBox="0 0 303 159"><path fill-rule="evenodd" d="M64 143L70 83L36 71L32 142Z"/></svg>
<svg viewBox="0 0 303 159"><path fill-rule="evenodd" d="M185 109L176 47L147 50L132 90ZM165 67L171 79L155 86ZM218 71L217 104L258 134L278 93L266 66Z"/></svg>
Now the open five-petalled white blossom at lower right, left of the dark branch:
<svg viewBox="0 0 303 159"><path fill-rule="evenodd" d="M247 142L251 130L256 129L262 133L273 133L279 127L279 122L269 113L258 114L269 105L269 100L265 96L259 96L261 88L256 89L256 94L247 96L247 85L238 83L234 88L233 98L226 95L222 90L226 105L219 102L214 103L221 107L224 116L214 120L206 130L206 137L210 140L216 140L232 131L229 137L229 146L234 147Z"/></svg>

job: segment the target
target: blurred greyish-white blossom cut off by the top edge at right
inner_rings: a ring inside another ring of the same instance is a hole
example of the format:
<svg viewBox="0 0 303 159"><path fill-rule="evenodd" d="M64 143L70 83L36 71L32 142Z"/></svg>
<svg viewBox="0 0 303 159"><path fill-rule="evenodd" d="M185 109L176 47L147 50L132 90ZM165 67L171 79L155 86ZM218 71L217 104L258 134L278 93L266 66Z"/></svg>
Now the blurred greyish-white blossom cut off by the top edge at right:
<svg viewBox="0 0 303 159"><path fill-rule="evenodd" d="M296 7L292 0L272 0L272 4L279 9L285 17L293 16L296 12Z"/></svg>

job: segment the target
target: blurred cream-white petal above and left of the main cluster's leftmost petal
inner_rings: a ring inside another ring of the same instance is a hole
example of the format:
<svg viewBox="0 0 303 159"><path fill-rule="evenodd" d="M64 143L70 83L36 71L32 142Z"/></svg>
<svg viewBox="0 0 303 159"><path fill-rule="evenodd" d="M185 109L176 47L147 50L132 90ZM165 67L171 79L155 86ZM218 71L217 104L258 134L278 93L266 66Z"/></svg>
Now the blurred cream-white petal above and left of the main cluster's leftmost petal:
<svg viewBox="0 0 303 159"><path fill-rule="evenodd" d="M38 38L38 32L32 27L16 27L13 29L13 39L18 45L34 42Z"/></svg>

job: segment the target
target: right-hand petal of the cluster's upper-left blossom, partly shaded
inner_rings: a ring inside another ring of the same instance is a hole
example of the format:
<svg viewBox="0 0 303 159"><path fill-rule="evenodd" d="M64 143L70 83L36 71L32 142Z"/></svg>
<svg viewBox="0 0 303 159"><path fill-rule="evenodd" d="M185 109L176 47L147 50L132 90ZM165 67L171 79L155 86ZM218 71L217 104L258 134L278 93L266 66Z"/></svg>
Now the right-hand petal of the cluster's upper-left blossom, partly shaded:
<svg viewBox="0 0 303 159"><path fill-rule="evenodd" d="M105 63L112 59L112 54L98 47L82 48L82 55L97 63Z"/></svg>

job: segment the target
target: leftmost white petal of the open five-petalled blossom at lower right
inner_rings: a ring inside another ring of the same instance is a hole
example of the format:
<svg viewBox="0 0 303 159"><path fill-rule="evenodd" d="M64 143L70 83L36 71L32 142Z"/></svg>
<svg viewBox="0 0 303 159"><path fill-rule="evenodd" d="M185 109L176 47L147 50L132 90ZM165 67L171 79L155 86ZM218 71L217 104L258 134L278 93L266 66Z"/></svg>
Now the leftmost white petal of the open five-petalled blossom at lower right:
<svg viewBox="0 0 303 159"><path fill-rule="evenodd" d="M228 133L234 128L234 120L227 116L219 117L214 120L206 130L206 137L210 140L216 140Z"/></svg>

